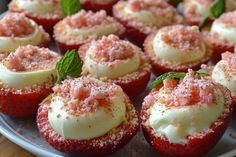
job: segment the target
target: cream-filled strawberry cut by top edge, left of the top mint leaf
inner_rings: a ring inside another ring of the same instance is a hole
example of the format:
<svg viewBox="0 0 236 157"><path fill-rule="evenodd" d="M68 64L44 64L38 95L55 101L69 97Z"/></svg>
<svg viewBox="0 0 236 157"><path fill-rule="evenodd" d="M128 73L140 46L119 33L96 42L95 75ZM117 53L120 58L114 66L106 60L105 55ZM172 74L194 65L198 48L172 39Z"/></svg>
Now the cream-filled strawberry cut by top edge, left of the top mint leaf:
<svg viewBox="0 0 236 157"><path fill-rule="evenodd" d="M60 0L12 0L9 11L24 13L49 33L53 26L63 18Z"/></svg>

